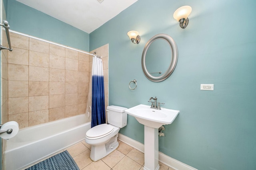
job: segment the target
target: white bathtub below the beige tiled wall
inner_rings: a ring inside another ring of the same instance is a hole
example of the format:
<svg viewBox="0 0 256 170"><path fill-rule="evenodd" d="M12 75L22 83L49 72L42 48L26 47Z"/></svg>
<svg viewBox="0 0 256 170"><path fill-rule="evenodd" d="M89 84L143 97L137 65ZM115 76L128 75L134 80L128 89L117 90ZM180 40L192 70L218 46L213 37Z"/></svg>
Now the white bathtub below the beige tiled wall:
<svg viewBox="0 0 256 170"><path fill-rule="evenodd" d="M91 123L77 115L20 129L6 142L6 170L22 170L84 140Z"/></svg>

